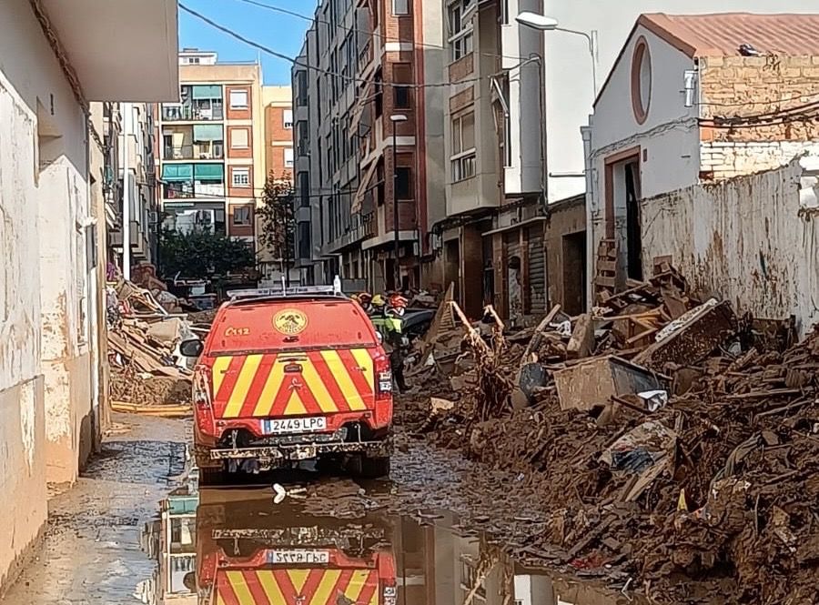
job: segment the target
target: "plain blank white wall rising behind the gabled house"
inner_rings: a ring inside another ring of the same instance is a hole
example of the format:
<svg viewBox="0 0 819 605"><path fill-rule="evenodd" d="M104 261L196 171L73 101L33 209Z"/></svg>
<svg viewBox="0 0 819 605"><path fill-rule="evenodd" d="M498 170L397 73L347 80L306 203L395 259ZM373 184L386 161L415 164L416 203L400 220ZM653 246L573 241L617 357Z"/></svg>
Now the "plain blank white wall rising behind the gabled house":
<svg viewBox="0 0 819 605"><path fill-rule="evenodd" d="M815 13L816 0L544 0L544 14L561 27L599 32L598 82L605 77L641 13L702 14L743 11L752 13ZM580 127L591 113L591 54L580 35L549 32L546 36L546 107L549 171L581 173L584 169ZM549 199L556 201L583 192L578 178L550 178Z"/></svg>

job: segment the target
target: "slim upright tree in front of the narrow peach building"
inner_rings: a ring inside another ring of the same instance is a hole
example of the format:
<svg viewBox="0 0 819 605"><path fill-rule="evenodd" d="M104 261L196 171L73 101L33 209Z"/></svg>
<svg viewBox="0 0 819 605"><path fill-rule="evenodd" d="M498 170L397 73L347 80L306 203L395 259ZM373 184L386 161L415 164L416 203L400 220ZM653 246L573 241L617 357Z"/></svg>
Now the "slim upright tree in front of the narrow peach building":
<svg viewBox="0 0 819 605"><path fill-rule="evenodd" d="M279 263L289 283L289 269L296 259L296 207L293 185L287 177L277 178L270 172L256 212L260 219L258 242Z"/></svg>

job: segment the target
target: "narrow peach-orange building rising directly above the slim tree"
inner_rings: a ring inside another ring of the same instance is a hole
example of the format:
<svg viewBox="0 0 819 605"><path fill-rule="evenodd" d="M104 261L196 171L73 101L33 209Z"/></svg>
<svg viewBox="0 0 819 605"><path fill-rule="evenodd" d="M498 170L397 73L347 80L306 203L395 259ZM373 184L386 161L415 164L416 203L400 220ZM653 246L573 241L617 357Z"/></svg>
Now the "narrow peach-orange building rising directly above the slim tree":
<svg viewBox="0 0 819 605"><path fill-rule="evenodd" d="M293 182L293 89L262 86L265 109L265 175Z"/></svg>

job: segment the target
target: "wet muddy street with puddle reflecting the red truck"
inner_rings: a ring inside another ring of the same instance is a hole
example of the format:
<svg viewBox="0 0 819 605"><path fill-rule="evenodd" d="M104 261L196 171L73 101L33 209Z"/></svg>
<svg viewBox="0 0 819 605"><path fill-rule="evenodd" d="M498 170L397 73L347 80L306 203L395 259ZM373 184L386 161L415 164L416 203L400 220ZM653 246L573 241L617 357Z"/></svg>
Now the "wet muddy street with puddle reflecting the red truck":
<svg viewBox="0 0 819 605"><path fill-rule="evenodd" d="M536 510L525 490L499 510L486 487L502 474L481 470L481 489L455 452L407 440L389 480L298 471L200 490L188 432L186 420L118 415L86 476L51 501L42 548L0 602L318 605L333 590L385 605L628 602L511 557Z"/></svg>

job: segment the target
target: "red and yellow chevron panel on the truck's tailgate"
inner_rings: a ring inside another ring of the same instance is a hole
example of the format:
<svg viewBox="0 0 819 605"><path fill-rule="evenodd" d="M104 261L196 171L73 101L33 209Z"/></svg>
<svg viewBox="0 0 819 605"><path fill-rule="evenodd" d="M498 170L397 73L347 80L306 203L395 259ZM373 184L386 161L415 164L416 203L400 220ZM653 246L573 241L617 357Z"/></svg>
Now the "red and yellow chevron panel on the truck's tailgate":
<svg viewBox="0 0 819 605"><path fill-rule="evenodd" d="M217 416L269 418L367 409L375 397L371 350L217 357L212 368ZM300 371L285 371L293 365Z"/></svg>

